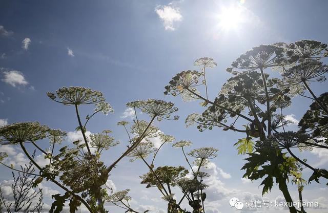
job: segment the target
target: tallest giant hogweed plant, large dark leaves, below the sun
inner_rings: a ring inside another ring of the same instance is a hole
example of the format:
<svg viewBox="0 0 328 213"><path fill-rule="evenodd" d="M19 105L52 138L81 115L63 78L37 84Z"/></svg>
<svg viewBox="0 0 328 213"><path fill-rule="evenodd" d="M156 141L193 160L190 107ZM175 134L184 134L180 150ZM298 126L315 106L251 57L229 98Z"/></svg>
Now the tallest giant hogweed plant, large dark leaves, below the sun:
<svg viewBox="0 0 328 213"><path fill-rule="evenodd" d="M262 179L262 194L268 193L277 183L289 203L290 212L297 212L288 189L289 177L299 173L297 162L312 169L308 180L319 182L328 179L324 168L314 168L293 151L328 148L328 93L319 97L311 84L323 82L328 67L321 59L328 56L326 44L314 40L300 40L292 44L261 45L238 57L227 71L232 77L223 84L214 100L209 99L206 69L216 66L212 58L199 58L194 65L199 71L182 71L165 87L166 95L181 96L184 101L199 100L206 110L192 113L186 118L186 126L197 125L200 132L219 127L223 131L243 134L234 145L238 154L247 154L242 169L244 178ZM267 70L279 71L280 77L270 77ZM204 94L201 88L204 87ZM309 94L306 94L309 93ZM285 131L290 123L283 110L292 105L292 98L300 95L313 103L299 122L299 131ZM323 139L322 139L323 138ZM284 152L287 151L287 152ZM297 175L298 174L298 175ZM300 210L304 212L304 209Z"/></svg>

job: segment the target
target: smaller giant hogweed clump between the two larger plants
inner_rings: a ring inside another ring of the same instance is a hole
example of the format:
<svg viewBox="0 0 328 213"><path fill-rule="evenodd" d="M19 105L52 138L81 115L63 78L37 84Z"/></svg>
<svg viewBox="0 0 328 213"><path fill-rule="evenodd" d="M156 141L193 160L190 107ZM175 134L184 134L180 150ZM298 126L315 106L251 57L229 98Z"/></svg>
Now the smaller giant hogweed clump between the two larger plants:
<svg viewBox="0 0 328 213"><path fill-rule="evenodd" d="M133 103L134 104L134 103ZM133 104L128 104L129 107L134 107ZM142 108L141 108L142 109ZM147 112L147 110L143 110ZM136 116L136 114L135 114ZM165 118L168 119L168 118ZM194 164L197 166L195 170L191 165L186 155L184 147L190 146L192 143L186 140L180 140L175 142L172 146L181 148L182 154L185 157L190 171L183 166L156 166L156 157L159 151L166 143L173 142L175 138L170 135L165 135L159 131L159 129L153 125L150 125L148 130L145 131L147 122L144 120L138 120L137 116L133 120L131 125L131 131L128 131L129 122L119 121L117 125L124 127L125 132L129 138L130 144L132 144L141 134L145 132L145 138L142 140L127 156L130 157L130 161L135 160L142 161L149 169L147 174L141 175L141 183L146 184L146 188L155 187L163 200L167 202L169 213L183 213L190 212L181 208L183 200L187 200L192 212L201 213L205 212L204 201L206 199L205 189L208 187L203 183L204 178L209 177L207 173L201 172L200 169L207 165L209 159L216 157L217 150L213 147L201 147L196 148L189 153L188 156L196 158ZM160 145L158 148L154 146L152 141L154 138L159 138ZM114 205L121 207L127 211L136 212L130 206L128 196L130 189L118 191L109 197L109 201ZM175 192L181 191L182 197L177 201Z"/></svg>

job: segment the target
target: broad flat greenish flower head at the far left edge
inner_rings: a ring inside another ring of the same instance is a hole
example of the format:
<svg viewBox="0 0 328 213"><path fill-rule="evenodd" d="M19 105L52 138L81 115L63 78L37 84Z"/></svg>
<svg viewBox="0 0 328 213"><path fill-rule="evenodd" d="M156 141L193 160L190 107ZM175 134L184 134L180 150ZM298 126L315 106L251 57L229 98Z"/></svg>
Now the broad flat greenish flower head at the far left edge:
<svg viewBox="0 0 328 213"><path fill-rule="evenodd" d="M38 122L11 123L0 127L0 143L15 144L40 140L48 137L49 130L48 126Z"/></svg>

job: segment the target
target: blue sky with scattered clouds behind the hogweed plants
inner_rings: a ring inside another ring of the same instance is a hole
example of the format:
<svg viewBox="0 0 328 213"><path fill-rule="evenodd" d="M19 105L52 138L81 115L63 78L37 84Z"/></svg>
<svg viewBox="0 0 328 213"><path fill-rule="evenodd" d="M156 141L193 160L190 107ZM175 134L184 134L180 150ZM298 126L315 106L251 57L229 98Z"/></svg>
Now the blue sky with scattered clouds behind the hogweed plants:
<svg viewBox="0 0 328 213"><path fill-rule="evenodd" d="M224 8L241 10L242 20L236 29L220 26L219 15ZM110 163L127 143L124 130L116 126L122 119L131 121L130 117L122 118L127 102L146 98L174 101L180 108L181 119L155 124L177 140L193 141L193 148L214 146L219 149L219 156L213 160L210 169L214 174L211 181L216 188L211 189L213 199L209 205L212 209L208 212L234 212L227 203L230 197L241 195L241 192L244 197L261 195L260 182L241 180L243 171L240 168L246 156L237 156L233 144L243 135L219 129L204 133L198 132L196 127L187 129L186 116L203 109L197 102L185 103L179 98L163 95L163 88L181 70L196 69L193 67L195 59L212 57L218 66L207 75L209 97L214 98L230 77L226 68L254 46L300 39L328 42L326 8L326 1L315 4L313 1L249 0L0 1L1 122L39 121L73 134L77 126L74 109L50 101L46 92L62 86L102 91L115 113L97 115L90 122L88 131L96 133L111 129L113 136L121 141L106 154L106 162ZM12 75L8 76L10 72ZM319 84L313 88L320 94L326 86ZM285 114L293 114L299 120L309 104L307 100L295 98L294 105ZM84 115L91 111L92 108L81 107ZM14 147L11 152L18 156L20 151ZM301 155L320 167L327 166L327 153L313 151ZM14 160L24 161L17 157L13 157ZM187 166L180 152L170 145L163 148L157 160L158 164ZM0 181L10 179L10 171L4 167L0 169L3 174ZM165 206L158 202L159 193L139 184L138 176L145 172L144 164L126 159L112 174L111 180L118 190L131 188L134 206L142 209L148 205L152 206L148 208L153 208L153 212L161 212ZM304 175L308 177L310 171L304 171ZM51 184L44 185L56 189ZM296 186L290 187L296 198ZM218 196L218 191L224 191L222 196ZM324 184L312 183L305 191L306 199L319 200L322 207L328 207ZM275 187L265 196L274 200L281 194ZM47 199L49 201L49 196ZM328 210L313 209L313 212Z"/></svg>

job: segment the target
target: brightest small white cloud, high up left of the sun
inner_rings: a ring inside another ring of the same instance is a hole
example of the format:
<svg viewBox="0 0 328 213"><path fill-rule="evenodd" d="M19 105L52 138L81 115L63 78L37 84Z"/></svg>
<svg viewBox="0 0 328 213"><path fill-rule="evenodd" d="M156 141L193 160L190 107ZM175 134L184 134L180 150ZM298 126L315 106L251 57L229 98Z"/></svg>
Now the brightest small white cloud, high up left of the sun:
<svg viewBox="0 0 328 213"><path fill-rule="evenodd" d="M176 22L181 22L182 15L180 9L174 7L172 3L167 6L159 5L155 8L155 12L158 17L162 20L163 25L166 30L175 30L174 24Z"/></svg>

